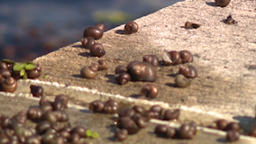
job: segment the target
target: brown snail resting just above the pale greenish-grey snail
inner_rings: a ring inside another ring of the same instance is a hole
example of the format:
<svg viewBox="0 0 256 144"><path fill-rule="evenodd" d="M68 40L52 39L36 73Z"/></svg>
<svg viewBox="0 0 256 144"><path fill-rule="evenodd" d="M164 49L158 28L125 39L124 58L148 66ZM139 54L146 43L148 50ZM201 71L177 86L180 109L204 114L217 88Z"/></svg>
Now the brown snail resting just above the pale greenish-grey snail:
<svg viewBox="0 0 256 144"><path fill-rule="evenodd" d="M180 66L178 70L178 74L182 74L187 78L196 78L197 77L197 69L190 65Z"/></svg>

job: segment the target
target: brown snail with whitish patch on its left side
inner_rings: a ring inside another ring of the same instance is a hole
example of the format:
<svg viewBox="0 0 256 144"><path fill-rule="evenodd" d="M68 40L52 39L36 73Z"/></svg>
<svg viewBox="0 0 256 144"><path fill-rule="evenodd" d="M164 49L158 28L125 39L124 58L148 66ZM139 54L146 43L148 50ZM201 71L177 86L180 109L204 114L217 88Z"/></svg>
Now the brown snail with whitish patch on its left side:
<svg viewBox="0 0 256 144"><path fill-rule="evenodd" d="M162 60L165 66L179 65L182 63L179 52L174 50L165 53L162 57Z"/></svg>

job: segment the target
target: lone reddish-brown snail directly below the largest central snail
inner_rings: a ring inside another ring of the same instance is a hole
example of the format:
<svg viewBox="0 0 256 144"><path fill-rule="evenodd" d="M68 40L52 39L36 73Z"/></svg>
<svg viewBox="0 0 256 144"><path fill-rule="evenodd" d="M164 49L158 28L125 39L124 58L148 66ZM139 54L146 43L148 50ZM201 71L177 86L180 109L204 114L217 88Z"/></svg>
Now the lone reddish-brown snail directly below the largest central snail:
<svg viewBox="0 0 256 144"><path fill-rule="evenodd" d="M141 90L141 95L147 98L155 98L158 94L158 88L156 85L148 84L144 85Z"/></svg>

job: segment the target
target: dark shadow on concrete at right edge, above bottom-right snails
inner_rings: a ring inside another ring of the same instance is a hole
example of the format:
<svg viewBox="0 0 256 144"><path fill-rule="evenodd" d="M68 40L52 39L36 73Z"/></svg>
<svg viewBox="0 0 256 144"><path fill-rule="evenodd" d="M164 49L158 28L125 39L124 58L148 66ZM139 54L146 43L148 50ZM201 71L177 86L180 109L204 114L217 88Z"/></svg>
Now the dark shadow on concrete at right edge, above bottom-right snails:
<svg viewBox="0 0 256 144"><path fill-rule="evenodd" d="M255 119L249 116L234 116L234 120L239 121L243 133L249 133L253 128L255 128Z"/></svg>

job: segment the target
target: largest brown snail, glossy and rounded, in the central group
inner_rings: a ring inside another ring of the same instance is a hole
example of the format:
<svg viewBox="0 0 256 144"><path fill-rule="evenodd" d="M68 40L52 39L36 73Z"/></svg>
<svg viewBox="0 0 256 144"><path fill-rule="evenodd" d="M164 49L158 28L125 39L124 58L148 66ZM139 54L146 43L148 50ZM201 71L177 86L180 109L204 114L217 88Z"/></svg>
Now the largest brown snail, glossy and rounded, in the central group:
<svg viewBox="0 0 256 144"><path fill-rule="evenodd" d="M156 70L147 62L132 61L127 66L127 72L133 81L150 81L157 79Z"/></svg>

